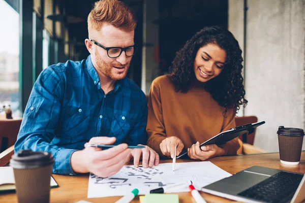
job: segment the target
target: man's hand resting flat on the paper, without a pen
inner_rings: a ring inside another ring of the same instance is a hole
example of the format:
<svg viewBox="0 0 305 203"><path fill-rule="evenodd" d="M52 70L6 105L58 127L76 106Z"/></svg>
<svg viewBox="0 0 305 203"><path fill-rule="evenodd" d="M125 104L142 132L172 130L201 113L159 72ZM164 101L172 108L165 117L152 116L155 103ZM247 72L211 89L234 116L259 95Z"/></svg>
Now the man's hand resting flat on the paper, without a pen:
<svg viewBox="0 0 305 203"><path fill-rule="evenodd" d="M138 145L138 146L145 146L145 145ZM129 160L133 158L135 167L139 167L141 155L142 155L142 165L144 168L147 168L148 166L153 167L154 165L159 165L160 162L159 154L150 147L145 146L145 148L133 149L131 151Z"/></svg>

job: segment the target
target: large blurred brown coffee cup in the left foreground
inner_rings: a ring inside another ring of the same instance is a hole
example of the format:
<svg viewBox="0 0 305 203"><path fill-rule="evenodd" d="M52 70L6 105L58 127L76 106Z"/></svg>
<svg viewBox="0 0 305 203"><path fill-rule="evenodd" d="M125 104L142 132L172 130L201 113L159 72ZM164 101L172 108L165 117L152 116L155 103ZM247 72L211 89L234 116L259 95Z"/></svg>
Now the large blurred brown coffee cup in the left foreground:
<svg viewBox="0 0 305 203"><path fill-rule="evenodd" d="M19 203L49 202L54 158L49 152L20 150L12 156Z"/></svg>

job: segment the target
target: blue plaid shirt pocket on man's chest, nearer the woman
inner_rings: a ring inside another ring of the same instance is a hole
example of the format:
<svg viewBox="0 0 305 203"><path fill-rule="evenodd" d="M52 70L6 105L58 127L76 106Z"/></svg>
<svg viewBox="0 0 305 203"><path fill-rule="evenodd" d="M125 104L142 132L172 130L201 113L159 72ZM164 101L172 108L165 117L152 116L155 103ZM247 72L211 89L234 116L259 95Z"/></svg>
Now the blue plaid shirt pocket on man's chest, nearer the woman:
<svg viewBox="0 0 305 203"><path fill-rule="evenodd" d="M114 113L110 134L116 137L116 143L121 143L128 136L132 127L132 119L129 118L129 115Z"/></svg>

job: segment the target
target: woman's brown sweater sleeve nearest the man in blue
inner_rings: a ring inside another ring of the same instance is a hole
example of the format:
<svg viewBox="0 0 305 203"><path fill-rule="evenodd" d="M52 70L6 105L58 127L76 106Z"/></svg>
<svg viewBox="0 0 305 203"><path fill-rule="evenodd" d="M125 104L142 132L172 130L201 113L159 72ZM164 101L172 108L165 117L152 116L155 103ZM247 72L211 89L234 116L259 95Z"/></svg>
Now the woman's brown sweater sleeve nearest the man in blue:
<svg viewBox="0 0 305 203"><path fill-rule="evenodd" d="M160 149L161 142L166 139L160 87L154 82L151 84L149 90L146 131L148 137L147 146L154 149L161 158L166 158Z"/></svg>

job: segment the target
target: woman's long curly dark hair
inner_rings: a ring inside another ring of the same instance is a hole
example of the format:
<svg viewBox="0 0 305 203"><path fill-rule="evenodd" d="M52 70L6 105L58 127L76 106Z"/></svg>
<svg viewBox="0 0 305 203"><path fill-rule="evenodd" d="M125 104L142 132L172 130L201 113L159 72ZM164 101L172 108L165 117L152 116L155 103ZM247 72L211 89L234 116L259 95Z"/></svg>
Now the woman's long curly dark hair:
<svg viewBox="0 0 305 203"><path fill-rule="evenodd" d="M241 69L243 61L241 49L232 33L220 26L204 27L198 31L185 46L180 49L170 66L171 81L176 91L188 92L193 80L197 80L194 73L194 61L198 50L207 44L217 44L226 51L227 59L221 74L205 83L205 90L219 103L221 107L238 112L239 106L246 107L245 88Z"/></svg>

